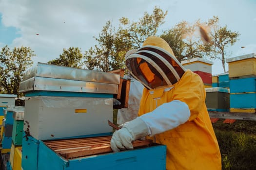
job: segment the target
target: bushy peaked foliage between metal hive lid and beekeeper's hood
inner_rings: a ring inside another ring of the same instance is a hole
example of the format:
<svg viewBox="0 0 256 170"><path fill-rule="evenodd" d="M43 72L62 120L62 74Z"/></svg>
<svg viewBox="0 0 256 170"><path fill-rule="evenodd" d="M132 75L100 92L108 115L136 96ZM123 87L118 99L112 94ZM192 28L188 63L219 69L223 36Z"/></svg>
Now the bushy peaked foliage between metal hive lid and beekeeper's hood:
<svg viewBox="0 0 256 170"><path fill-rule="evenodd" d="M125 32L115 31L110 21L106 22L98 38L98 45L85 51L85 66L88 69L101 68L107 72L124 68L123 56L130 48L129 41L123 38Z"/></svg>

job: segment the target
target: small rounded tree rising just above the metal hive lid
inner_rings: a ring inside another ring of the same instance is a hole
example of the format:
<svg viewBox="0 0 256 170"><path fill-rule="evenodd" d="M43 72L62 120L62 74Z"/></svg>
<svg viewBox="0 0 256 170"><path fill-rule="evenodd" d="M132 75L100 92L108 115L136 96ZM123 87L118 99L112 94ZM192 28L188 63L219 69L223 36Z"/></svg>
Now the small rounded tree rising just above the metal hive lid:
<svg viewBox="0 0 256 170"><path fill-rule="evenodd" d="M70 47L67 50L64 48L62 54L59 55L59 58L48 61L48 64L80 68L82 58L83 54L78 47Z"/></svg>

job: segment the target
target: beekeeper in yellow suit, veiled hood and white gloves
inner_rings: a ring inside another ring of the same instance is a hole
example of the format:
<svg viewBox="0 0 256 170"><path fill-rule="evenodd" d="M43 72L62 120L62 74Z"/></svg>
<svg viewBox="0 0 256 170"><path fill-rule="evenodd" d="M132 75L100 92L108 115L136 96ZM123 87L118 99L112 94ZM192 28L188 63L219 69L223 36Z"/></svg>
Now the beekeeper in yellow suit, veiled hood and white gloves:
<svg viewBox="0 0 256 170"><path fill-rule="evenodd" d="M157 36L148 37L125 62L144 89L138 117L113 134L112 150L131 150L134 140L146 136L167 146L167 170L221 170L201 78L183 68Z"/></svg>

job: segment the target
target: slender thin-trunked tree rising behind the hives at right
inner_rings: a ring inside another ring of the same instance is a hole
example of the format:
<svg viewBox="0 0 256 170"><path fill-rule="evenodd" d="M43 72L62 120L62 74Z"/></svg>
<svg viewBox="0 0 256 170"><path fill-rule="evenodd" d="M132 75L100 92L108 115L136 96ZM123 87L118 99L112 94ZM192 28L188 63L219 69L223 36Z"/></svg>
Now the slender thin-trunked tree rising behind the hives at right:
<svg viewBox="0 0 256 170"><path fill-rule="evenodd" d="M210 57L217 58L222 61L223 70L226 72L225 58L228 52L227 47L233 46L236 41L238 41L238 36L240 34L238 32L228 30L227 25L220 27L218 22L219 18L216 16L206 22L210 29L209 35L212 39L212 44L207 44L205 49L208 51L208 55Z"/></svg>

